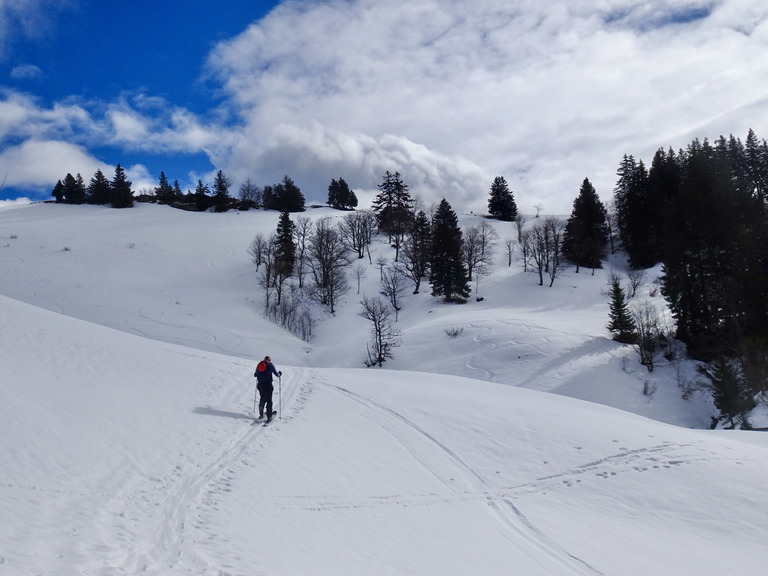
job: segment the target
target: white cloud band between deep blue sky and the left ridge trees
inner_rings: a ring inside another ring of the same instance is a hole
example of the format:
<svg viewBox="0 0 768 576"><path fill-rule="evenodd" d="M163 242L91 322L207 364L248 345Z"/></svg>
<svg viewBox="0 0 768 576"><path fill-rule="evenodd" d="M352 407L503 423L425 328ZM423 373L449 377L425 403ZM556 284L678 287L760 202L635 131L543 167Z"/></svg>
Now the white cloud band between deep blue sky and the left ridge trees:
<svg viewBox="0 0 768 576"><path fill-rule="evenodd" d="M0 167L14 167L13 185L19 188L52 187L68 172L80 172L88 180L99 167L107 174L111 168L104 169L88 152L91 146L153 154L213 153L228 141L221 127L204 124L158 98L138 95L109 104L73 99L43 106L28 94L0 89ZM154 179L139 166L132 175L134 188L148 187Z"/></svg>

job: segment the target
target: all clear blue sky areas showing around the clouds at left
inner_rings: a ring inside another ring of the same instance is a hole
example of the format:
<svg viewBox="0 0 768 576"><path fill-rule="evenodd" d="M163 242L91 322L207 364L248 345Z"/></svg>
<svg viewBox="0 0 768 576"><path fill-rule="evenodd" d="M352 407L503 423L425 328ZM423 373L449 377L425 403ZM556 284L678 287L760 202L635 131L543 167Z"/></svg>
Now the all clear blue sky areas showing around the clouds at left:
<svg viewBox="0 0 768 576"><path fill-rule="evenodd" d="M221 99L218 87L204 74L207 54L217 42L242 32L276 4L136 0L128 7L100 0L32 0L26 6L21 2L14 6L0 0L6 37L0 51L0 90L29 95L42 109L68 102L98 114L110 103L142 97L159 98L164 101L161 106L173 103L205 117ZM3 147L14 144L18 140L13 138L2 142ZM179 155L92 141L88 152L103 160L108 177L120 162L145 165L153 176L163 170L189 185L190 172L202 174L214 168L202 150ZM61 177L79 169L73 165ZM19 195L38 199L50 194L37 182L14 184L12 167L0 166L0 171L0 180L7 173L13 184L0 190L0 199ZM92 175L83 171L86 182Z"/></svg>

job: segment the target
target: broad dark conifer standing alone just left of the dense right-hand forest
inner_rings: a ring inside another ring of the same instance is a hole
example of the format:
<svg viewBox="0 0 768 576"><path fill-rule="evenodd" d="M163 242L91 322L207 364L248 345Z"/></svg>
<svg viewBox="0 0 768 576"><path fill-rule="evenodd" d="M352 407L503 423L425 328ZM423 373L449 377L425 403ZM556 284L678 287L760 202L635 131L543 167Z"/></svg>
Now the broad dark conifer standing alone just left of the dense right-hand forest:
<svg viewBox="0 0 768 576"><path fill-rule="evenodd" d="M579 266L602 267L608 244L607 219L608 212L594 186L584 178L565 225L562 245L565 257L576 264L576 272Z"/></svg>

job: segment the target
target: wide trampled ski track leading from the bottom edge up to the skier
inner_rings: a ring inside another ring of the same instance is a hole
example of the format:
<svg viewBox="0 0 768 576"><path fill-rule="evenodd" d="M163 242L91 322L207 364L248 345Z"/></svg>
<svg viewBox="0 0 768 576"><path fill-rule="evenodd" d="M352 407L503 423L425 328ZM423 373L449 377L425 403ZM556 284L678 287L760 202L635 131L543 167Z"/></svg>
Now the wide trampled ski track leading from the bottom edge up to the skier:
<svg viewBox="0 0 768 576"><path fill-rule="evenodd" d="M282 400L291 421L300 412L308 396L308 378L294 370L285 384ZM238 383L231 394L240 394ZM278 384L275 385L278 403ZM242 431L232 436L221 449L208 454L207 461L195 454L180 453L175 465L158 476L139 476L130 469L116 471L107 485L120 485L117 494L104 495L95 513L94 524L101 527L102 541L88 545L93 558L83 567L83 574L111 575L157 574L172 572L179 564L195 564L199 559L185 556L187 540L215 538L207 528L206 517L216 511L222 495L230 491L234 475L243 467L255 465L253 456L260 450L259 438L279 428L280 418L265 427L254 425L250 416L253 404L241 403L242 412L204 408L196 413L243 420ZM213 432L213 430L211 429ZM251 464L254 462L254 464ZM115 480L115 477L120 478ZM158 512L159 510L159 512ZM203 567L199 573L209 573Z"/></svg>

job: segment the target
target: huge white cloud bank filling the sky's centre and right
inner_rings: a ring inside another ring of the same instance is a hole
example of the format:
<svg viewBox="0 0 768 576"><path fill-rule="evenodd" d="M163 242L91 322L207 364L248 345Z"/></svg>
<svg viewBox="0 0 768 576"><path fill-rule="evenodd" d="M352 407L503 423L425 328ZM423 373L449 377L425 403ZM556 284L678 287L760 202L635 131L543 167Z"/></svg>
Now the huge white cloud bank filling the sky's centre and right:
<svg viewBox="0 0 768 576"><path fill-rule="evenodd" d="M372 189L399 169L476 209L502 174L521 209L568 213L585 176L610 198L624 153L766 137L766 19L757 0L285 4L210 56L244 125L220 160Z"/></svg>

